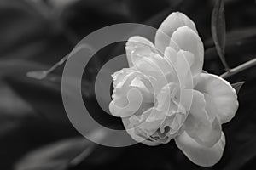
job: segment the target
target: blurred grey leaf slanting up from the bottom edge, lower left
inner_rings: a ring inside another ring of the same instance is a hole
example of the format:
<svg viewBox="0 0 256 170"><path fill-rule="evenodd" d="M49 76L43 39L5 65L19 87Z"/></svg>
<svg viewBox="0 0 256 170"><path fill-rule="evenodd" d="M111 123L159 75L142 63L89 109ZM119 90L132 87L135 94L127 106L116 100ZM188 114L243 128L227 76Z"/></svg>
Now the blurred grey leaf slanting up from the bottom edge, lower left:
<svg viewBox="0 0 256 170"><path fill-rule="evenodd" d="M84 138L66 139L30 152L15 165L15 169L67 169L74 160L75 163L84 161L93 148L94 144ZM77 161L79 156L84 159Z"/></svg>

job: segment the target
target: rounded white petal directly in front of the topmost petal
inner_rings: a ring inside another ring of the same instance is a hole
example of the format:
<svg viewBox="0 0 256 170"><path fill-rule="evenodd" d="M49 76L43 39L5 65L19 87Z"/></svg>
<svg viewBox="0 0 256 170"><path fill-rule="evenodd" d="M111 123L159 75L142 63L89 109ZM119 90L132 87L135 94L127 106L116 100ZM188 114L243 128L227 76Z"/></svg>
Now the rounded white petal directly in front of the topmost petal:
<svg viewBox="0 0 256 170"><path fill-rule="evenodd" d="M193 65L191 65L191 72L193 77L201 73L204 61L204 47L201 38L195 31L188 26L179 27L172 34L170 47L174 48L177 52L182 49L194 54L195 59Z"/></svg>

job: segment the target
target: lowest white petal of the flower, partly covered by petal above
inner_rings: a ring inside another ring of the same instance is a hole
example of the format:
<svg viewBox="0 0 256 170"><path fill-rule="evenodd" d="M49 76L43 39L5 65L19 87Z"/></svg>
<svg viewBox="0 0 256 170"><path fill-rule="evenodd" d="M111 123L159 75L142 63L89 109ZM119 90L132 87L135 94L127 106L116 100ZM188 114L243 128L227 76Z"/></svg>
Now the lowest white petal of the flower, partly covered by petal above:
<svg viewBox="0 0 256 170"><path fill-rule="evenodd" d="M189 137L188 133L184 132L175 138L177 147L193 161L195 164L202 167L211 167L216 164L223 155L225 146L224 133L221 133L221 138L218 143L212 147L206 147L195 142Z"/></svg>

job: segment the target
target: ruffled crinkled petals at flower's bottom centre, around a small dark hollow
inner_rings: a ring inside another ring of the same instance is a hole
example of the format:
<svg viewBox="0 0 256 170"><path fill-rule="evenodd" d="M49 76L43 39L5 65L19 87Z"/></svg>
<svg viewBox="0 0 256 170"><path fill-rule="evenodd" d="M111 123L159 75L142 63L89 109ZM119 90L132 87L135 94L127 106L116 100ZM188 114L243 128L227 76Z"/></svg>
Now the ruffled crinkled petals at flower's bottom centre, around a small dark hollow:
<svg viewBox="0 0 256 170"><path fill-rule="evenodd" d="M177 91L176 84L167 84L157 95L153 107L142 114L123 119L133 139L138 142L145 139L149 145L152 142L166 144L177 135L187 116L185 109L177 103Z"/></svg>

